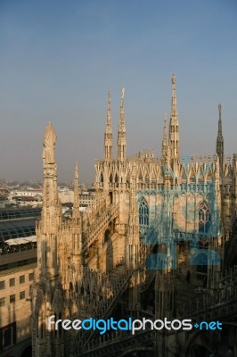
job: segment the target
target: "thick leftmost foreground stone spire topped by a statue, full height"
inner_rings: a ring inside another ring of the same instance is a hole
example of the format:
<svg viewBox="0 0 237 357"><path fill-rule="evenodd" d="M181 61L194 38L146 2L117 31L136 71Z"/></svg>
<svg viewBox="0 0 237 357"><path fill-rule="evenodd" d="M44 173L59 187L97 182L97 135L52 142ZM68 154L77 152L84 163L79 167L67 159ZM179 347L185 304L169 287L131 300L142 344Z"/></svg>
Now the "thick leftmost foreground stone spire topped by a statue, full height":
<svg viewBox="0 0 237 357"><path fill-rule="evenodd" d="M56 134L51 123L45 129L43 207L37 225L37 277L30 290L32 309L32 355L64 355L63 336L48 327L48 319L64 314L63 290L58 261L61 232L61 202L58 197L57 165L54 159ZM55 338L57 336L57 338Z"/></svg>

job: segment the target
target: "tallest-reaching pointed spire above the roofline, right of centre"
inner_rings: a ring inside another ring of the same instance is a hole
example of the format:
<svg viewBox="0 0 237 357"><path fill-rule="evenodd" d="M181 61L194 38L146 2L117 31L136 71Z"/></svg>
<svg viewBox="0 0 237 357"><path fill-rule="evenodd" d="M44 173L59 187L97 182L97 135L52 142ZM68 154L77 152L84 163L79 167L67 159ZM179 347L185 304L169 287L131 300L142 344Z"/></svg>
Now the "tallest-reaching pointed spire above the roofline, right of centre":
<svg viewBox="0 0 237 357"><path fill-rule="evenodd" d="M171 115L169 121L169 150L170 159L179 159L180 156L180 144L179 144L179 122L177 114L176 104L176 76L173 74L172 79L172 99L171 99Z"/></svg>

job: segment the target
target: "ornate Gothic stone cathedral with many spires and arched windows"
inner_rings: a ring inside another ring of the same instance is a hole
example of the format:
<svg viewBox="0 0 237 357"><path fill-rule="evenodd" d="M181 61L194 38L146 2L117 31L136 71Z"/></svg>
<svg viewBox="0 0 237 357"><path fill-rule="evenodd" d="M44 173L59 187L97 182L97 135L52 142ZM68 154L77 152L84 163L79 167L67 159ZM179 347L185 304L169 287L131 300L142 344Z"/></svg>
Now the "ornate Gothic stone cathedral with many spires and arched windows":
<svg viewBox="0 0 237 357"><path fill-rule="evenodd" d="M237 157L225 157L220 104L216 154L181 156L175 75L171 83L159 159L151 151L127 156L124 87L113 157L109 92L96 198L79 211L76 164L68 220L58 196L56 134L51 123L46 127L30 290L34 357L237 356ZM122 328L101 334L50 325L52 316L150 322L134 334ZM192 321L190 330L151 328L155 320L184 319ZM201 321L206 328L198 328ZM211 321L222 328L208 330Z"/></svg>

